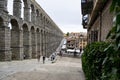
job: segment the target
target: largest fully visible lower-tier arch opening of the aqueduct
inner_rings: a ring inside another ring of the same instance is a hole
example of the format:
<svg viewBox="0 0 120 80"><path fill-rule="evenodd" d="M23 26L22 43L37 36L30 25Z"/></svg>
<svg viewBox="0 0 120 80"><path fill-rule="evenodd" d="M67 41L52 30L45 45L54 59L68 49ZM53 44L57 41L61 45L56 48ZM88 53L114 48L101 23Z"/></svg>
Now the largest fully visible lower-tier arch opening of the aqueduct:
<svg viewBox="0 0 120 80"><path fill-rule="evenodd" d="M20 55L20 30L18 21L15 19L10 20L11 23L11 51L12 51L12 59L19 60Z"/></svg>

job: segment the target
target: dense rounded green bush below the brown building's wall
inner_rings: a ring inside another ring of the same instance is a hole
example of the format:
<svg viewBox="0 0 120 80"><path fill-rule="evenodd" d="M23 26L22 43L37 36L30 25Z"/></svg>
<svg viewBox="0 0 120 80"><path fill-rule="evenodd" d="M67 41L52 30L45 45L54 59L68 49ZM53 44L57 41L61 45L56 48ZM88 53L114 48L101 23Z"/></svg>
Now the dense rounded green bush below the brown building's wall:
<svg viewBox="0 0 120 80"><path fill-rule="evenodd" d="M86 80L119 80L120 59L115 58L113 47L109 43L94 42L88 44L82 55L82 67ZM114 57L113 57L114 56Z"/></svg>

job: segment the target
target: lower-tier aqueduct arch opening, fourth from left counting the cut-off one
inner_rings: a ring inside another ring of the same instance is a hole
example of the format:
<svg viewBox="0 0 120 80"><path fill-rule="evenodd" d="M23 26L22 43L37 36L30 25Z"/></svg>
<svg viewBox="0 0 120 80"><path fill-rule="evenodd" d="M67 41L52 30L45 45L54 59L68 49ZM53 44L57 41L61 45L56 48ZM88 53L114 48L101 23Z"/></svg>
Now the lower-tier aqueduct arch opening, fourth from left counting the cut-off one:
<svg viewBox="0 0 120 80"><path fill-rule="evenodd" d="M32 58L36 58L36 33L34 26L31 27Z"/></svg>

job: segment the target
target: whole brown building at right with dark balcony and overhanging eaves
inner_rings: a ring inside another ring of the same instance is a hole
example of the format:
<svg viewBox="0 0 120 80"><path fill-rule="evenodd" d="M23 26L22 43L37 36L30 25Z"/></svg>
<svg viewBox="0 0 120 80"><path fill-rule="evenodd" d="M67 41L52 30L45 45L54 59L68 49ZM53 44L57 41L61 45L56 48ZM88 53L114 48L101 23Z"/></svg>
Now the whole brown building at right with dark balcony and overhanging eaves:
<svg viewBox="0 0 120 80"><path fill-rule="evenodd" d="M87 29L88 42L105 41L113 24L110 13L112 0L82 0L82 24Z"/></svg>

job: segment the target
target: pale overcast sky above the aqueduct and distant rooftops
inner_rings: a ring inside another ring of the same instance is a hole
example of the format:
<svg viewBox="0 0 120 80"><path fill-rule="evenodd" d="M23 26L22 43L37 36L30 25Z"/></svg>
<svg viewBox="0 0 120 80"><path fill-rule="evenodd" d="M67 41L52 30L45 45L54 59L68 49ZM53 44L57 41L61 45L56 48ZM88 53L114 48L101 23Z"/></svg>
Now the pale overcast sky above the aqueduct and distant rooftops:
<svg viewBox="0 0 120 80"><path fill-rule="evenodd" d="M64 32L86 32L82 27L80 0L36 0ZM11 0L8 0L11 6ZM10 8L8 8L9 10Z"/></svg>

